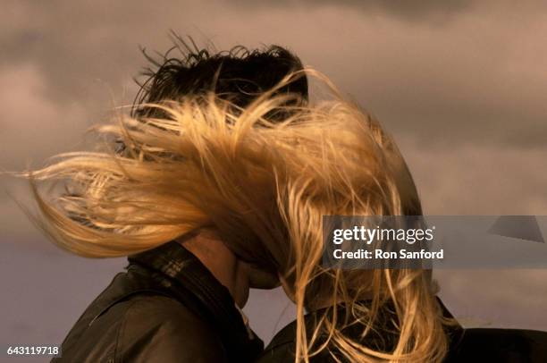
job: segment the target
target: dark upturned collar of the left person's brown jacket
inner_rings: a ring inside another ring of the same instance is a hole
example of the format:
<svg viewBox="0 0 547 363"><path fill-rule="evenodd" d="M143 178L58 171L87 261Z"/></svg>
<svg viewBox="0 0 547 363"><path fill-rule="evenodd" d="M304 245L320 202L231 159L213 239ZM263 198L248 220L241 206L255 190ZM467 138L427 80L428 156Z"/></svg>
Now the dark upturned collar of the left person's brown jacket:
<svg viewBox="0 0 547 363"><path fill-rule="evenodd" d="M230 291L181 243L170 241L128 259L153 272L162 290L209 320L231 358L245 354L250 360L262 351L264 343L248 329Z"/></svg>

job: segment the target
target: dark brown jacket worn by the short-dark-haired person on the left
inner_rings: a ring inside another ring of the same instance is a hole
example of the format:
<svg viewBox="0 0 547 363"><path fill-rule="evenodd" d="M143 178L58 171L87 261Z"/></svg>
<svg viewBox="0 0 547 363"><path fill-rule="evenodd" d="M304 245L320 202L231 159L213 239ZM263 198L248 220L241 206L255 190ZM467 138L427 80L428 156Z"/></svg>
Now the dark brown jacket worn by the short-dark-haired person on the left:
<svg viewBox="0 0 547 363"><path fill-rule="evenodd" d="M72 327L54 362L247 362L263 349L230 292L180 243L129 262Z"/></svg>

